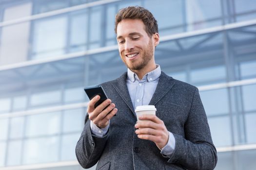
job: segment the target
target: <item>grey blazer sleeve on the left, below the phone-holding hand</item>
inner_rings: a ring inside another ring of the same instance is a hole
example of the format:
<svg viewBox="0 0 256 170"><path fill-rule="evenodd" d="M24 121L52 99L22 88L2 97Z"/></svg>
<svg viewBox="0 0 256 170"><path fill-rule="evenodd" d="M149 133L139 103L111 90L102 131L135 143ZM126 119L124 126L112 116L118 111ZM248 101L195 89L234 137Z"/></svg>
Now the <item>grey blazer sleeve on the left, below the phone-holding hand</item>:
<svg viewBox="0 0 256 170"><path fill-rule="evenodd" d="M88 118L88 114L86 114L85 125L76 146L76 156L79 164L83 168L91 168L98 162L105 148L108 134L102 137L92 135L90 119Z"/></svg>

